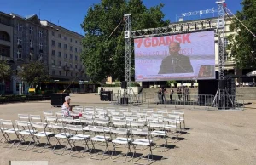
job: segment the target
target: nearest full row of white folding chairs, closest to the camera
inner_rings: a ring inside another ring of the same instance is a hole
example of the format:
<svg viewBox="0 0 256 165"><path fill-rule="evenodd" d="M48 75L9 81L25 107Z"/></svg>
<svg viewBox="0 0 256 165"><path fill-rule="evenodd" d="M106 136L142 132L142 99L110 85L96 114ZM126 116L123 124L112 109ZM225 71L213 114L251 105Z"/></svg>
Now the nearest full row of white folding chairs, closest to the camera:
<svg viewBox="0 0 256 165"><path fill-rule="evenodd" d="M53 152L55 152L55 147L57 145L61 145L61 139L67 139L67 145L61 152L61 155L67 151L67 148L70 147L70 152L73 151L73 147L75 147L75 141L77 140L82 140L84 141L84 151L89 150L90 147L88 145L88 142L91 142L92 148L90 149L90 155L93 150L95 150L95 143L96 142L104 142L106 147L105 150L103 151L102 158L104 156L104 153L106 151L109 151L108 149L108 143L112 142L113 144L113 152L116 151L116 145L125 145L127 146L127 153L125 156L125 161L128 155L128 152L131 152L130 145L133 146L134 152L132 156L132 160L134 161L134 154L136 153L136 147L137 145L148 145L150 148L150 154L152 155L152 149L151 145L153 144L152 137L153 136L160 136L165 139L165 145L167 145L167 131L168 125L166 125L164 122L154 122L150 121L148 124L148 128L113 128L110 127L109 129L104 128L103 126L97 125L88 125L84 127L83 125L73 125L70 124L72 121L72 118L69 117L62 117L62 122L63 123L55 123L55 122L50 122L49 124L45 124L44 122L28 122L28 121L20 121L16 120L16 128L15 125L13 124L12 121L10 120L0 120L1 124L1 132L3 134L3 138L5 141L3 142L9 142L11 141L11 138L9 134L15 134L16 139L14 140L14 143L11 145L15 145L15 142L19 141L17 147L19 147L20 144L26 143L26 136L30 138L29 144L26 146L26 149L29 148L29 146L34 143L33 148L36 145L41 144L40 139L41 138L46 138L47 143L45 143L43 150L39 152L43 152L44 149L46 149L47 145L51 145L50 138L55 137L56 139L56 144L53 148ZM66 123L64 123L66 122ZM52 128L52 132L49 132L46 130L47 127ZM160 130L155 130L153 128L162 128ZM151 131L152 130L152 131ZM88 132L89 134L85 134ZM93 135L94 133L99 133L103 135ZM107 135L108 134L108 135ZM124 134L125 136L123 137L116 137L112 136L113 134ZM140 137L134 136L134 135L139 135L139 136L145 136L146 139L141 139ZM19 148L20 149L20 148ZM25 150L26 150L25 149ZM82 155L84 155L84 151L82 152ZM165 150L166 151L166 150ZM37 150L38 152L38 150ZM113 159L113 152L111 158ZM58 153L57 153L58 154ZM81 157L80 156L80 157ZM94 156L90 156L91 158L94 158ZM101 158L101 160L102 160ZM149 162L149 155L148 155L148 162Z"/></svg>

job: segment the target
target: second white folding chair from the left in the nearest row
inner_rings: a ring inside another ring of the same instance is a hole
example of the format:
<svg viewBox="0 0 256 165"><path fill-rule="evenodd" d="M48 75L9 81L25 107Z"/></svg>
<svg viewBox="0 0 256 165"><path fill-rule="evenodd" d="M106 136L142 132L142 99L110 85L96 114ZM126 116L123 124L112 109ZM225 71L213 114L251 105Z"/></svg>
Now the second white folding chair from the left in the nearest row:
<svg viewBox="0 0 256 165"><path fill-rule="evenodd" d="M19 121L19 120L16 120L15 122L16 122L16 126L17 126L17 128L19 130L17 133L18 133L18 135L20 137L20 142L17 145L17 148L21 149L21 150L27 150L28 147L32 144L32 142L34 142L34 143L36 142L34 137L33 137L33 134L37 133L37 131L36 130L34 131L31 128L30 122ZM26 148L25 149L19 148L20 144L26 144L26 142L27 142L26 139L30 140L28 145L26 146Z"/></svg>

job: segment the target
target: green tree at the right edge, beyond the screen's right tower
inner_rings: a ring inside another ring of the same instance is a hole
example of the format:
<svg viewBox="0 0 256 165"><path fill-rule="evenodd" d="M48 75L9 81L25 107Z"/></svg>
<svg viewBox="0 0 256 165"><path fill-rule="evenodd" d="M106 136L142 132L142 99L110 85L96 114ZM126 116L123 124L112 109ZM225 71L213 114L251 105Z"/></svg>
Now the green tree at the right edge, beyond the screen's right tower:
<svg viewBox="0 0 256 165"><path fill-rule="evenodd" d="M236 13L236 17L256 34L256 1L243 0L242 10ZM256 38L234 18L230 25L230 31L236 32L228 37L231 57L234 57L237 68L256 67Z"/></svg>

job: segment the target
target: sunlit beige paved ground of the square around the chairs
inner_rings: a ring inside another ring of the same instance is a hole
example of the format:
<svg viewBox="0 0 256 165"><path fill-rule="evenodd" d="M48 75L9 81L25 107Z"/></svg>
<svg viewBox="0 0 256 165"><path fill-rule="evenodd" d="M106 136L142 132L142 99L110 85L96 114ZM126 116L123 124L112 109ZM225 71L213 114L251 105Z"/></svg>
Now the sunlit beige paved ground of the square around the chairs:
<svg viewBox="0 0 256 165"><path fill-rule="evenodd" d="M100 101L95 94L73 94L72 105L112 106L109 102ZM0 105L0 118L18 119L18 114L40 114L44 110L59 110L53 108L48 101L34 101ZM170 108L171 109L171 108ZM174 108L172 108L174 109ZM171 143L172 149L166 152L156 152L163 156L160 164L256 164L256 105L247 105L244 111L203 111L186 110L187 134L182 134L183 140ZM53 143L55 144L55 143ZM113 149L110 145L110 150ZM46 150L47 151L47 150ZM132 148L131 148L131 151ZM139 151L141 152L141 151ZM68 152L67 152L68 153ZM144 151L143 151L144 153ZM0 146L0 164L9 161L48 161L51 164L86 164L106 165L121 164L112 162L110 158L104 161L84 158L71 158L68 154L59 156L52 153L35 153L32 150L21 151L16 148ZM133 164L127 162L126 164Z"/></svg>

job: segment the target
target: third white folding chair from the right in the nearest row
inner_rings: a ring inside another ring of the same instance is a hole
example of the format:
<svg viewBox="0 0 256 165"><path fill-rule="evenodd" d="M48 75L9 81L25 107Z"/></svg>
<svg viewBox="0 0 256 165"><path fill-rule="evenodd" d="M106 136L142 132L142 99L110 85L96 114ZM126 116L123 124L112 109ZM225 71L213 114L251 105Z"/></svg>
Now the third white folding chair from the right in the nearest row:
<svg viewBox="0 0 256 165"><path fill-rule="evenodd" d="M103 134L103 135L96 135L94 137L90 138L90 142L92 145L92 148L90 149L90 155L92 151L95 151L95 143L96 142L103 142L105 143L105 150L102 151L102 157L101 158L96 158L95 156L90 156L91 159L97 159L97 160L102 160L103 157L105 156L105 153L108 149L108 143L110 142L110 137L106 136L106 131L103 128L103 126L89 126L90 132L94 132L94 133L99 133L99 134ZM99 155L99 152L98 154Z"/></svg>

